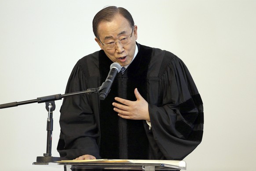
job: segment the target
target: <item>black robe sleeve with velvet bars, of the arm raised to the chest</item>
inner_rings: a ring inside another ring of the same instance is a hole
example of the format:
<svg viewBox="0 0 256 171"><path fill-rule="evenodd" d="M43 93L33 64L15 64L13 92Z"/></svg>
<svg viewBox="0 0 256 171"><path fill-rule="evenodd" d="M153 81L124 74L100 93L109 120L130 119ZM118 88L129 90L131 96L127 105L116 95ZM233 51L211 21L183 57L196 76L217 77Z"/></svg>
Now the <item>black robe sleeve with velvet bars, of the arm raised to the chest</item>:
<svg viewBox="0 0 256 171"><path fill-rule="evenodd" d="M152 136L167 160L182 160L203 135L203 103L189 70L166 52L159 72L157 105L149 104Z"/></svg>

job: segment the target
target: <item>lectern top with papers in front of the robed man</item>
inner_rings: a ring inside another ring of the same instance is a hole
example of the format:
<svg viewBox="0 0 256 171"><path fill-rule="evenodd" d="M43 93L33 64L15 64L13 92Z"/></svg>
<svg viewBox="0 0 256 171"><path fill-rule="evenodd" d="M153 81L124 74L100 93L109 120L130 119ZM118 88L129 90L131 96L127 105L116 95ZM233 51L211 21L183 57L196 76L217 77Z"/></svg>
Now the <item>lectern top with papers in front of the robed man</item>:
<svg viewBox="0 0 256 171"><path fill-rule="evenodd" d="M167 161L167 160L70 160L54 162L34 162L34 165L56 164L63 165L64 171L76 171L79 169L119 169L119 170L186 170L185 161Z"/></svg>

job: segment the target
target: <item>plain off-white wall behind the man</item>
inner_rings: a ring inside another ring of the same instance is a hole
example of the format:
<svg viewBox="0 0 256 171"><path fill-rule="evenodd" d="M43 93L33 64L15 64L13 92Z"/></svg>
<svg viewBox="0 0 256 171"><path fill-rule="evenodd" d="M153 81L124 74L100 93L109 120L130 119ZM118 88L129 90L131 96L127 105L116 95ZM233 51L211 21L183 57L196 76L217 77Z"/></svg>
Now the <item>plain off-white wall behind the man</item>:
<svg viewBox="0 0 256 171"><path fill-rule="evenodd" d="M64 94L77 60L99 50L91 22L106 5L128 9L137 42L179 56L197 84L205 129L187 171L255 170L255 0L0 0L0 104ZM0 109L1 170L63 170L32 165L46 152L47 115L37 103Z"/></svg>

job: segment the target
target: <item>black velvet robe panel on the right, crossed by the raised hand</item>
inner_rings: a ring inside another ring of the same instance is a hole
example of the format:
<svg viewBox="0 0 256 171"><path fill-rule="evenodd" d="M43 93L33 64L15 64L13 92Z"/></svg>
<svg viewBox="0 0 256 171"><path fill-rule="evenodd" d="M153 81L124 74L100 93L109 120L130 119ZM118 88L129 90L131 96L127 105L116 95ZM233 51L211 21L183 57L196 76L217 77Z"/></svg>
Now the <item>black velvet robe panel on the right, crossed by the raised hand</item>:
<svg viewBox="0 0 256 171"><path fill-rule="evenodd" d="M134 90L147 100L147 71L152 49L141 46L139 52L128 67L127 98L136 101ZM148 159L148 140L142 120L128 120L128 156L133 159Z"/></svg>

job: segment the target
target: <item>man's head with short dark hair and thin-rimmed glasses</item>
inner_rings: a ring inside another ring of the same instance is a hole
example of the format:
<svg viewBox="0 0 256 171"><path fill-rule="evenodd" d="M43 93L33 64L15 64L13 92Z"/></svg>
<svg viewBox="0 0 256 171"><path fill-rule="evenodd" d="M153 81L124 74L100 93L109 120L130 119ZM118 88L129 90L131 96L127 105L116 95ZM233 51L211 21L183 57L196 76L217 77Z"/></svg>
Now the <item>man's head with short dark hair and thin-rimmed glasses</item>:
<svg viewBox="0 0 256 171"><path fill-rule="evenodd" d="M95 41L112 62L131 63L136 47L137 26L132 15L121 7L106 7L93 19Z"/></svg>

